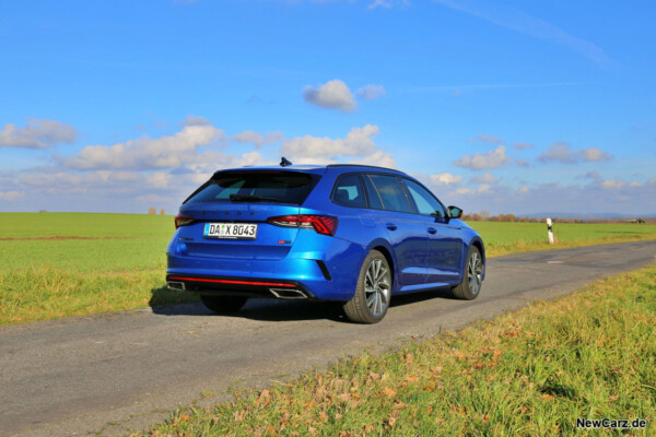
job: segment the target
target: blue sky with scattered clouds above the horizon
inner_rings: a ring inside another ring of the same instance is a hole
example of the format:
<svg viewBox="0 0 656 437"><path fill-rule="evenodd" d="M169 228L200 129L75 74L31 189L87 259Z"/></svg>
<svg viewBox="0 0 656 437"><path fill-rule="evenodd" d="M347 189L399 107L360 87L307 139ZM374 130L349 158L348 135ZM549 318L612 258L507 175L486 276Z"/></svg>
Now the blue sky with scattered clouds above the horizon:
<svg viewBox="0 0 656 437"><path fill-rule="evenodd" d="M0 211L177 211L365 163L491 214L656 214L653 1L0 3Z"/></svg>

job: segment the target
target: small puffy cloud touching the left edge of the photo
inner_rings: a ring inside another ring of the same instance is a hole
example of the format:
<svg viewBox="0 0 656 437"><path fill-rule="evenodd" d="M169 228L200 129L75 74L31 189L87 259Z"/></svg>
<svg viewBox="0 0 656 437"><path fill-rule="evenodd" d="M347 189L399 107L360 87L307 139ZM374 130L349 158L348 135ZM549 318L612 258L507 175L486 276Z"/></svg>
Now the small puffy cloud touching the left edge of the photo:
<svg viewBox="0 0 656 437"><path fill-rule="evenodd" d="M7 123L0 130L0 147L49 149L58 143L72 144L78 132L56 120L28 118L24 128Z"/></svg>

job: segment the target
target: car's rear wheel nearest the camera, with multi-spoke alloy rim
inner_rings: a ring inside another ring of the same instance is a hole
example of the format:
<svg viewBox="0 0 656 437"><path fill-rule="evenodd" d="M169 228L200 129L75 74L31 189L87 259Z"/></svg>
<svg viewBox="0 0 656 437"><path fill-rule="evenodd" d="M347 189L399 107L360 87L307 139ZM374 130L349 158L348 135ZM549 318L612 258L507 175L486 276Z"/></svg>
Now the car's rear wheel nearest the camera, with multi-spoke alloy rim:
<svg viewBox="0 0 656 437"><path fill-rule="evenodd" d="M343 306L349 320L355 323L377 323L387 314L391 299L391 269L387 259L372 250L360 269L353 298Z"/></svg>

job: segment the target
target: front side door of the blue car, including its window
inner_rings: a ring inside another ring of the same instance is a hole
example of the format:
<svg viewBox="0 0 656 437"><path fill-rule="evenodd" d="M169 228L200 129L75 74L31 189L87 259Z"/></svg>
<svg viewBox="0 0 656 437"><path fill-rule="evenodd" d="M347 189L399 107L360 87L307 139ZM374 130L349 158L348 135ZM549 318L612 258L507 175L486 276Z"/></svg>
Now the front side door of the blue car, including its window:
<svg viewBox="0 0 656 437"><path fill-rule="evenodd" d="M444 205L425 187L408 178L402 181L429 236L426 283L435 286L458 283L462 259L461 228L450 224Z"/></svg>

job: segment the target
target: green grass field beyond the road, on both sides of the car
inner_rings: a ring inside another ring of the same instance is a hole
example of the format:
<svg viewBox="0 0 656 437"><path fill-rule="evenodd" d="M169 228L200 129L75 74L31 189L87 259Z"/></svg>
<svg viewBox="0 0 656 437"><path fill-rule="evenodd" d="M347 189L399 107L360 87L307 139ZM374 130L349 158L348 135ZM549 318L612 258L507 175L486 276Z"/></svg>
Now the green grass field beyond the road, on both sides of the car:
<svg viewBox="0 0 656 437"><path fill-rule="evenodd" d="M655 225L470 223L488 256L656 239ZM173 217L0 213L0 324L133 309L196 298L164 288Z"/></svg>

